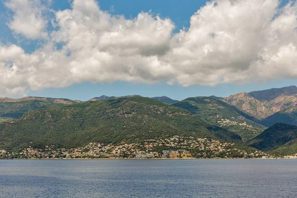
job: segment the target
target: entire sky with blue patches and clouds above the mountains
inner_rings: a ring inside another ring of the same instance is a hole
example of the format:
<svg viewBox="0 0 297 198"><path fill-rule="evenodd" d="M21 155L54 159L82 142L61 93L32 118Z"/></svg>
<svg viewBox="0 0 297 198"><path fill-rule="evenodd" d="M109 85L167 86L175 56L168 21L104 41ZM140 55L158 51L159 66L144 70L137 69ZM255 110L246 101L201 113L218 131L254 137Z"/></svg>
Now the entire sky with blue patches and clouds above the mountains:
<svg viewBox="0 0 297 198"><path fill-rule="evenodd" d="M295 0L0 0L0 97L297 85Z"/></svg>

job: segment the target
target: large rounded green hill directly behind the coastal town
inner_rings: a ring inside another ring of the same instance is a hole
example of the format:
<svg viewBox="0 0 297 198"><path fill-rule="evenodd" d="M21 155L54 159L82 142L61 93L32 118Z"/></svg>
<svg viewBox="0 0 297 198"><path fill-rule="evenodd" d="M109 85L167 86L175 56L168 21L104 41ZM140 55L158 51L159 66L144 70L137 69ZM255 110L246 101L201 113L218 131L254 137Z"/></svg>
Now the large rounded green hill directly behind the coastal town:
<svg viewBox="0 0 297 198"><path fill-rule="evenodd" d="M0 124L0 149L16 150L30 143L41 148L50 144L75 148L90 142L139 142L174 135L235 142L241 139L186 109L131 97L30 111L19 120Z"/></svg>

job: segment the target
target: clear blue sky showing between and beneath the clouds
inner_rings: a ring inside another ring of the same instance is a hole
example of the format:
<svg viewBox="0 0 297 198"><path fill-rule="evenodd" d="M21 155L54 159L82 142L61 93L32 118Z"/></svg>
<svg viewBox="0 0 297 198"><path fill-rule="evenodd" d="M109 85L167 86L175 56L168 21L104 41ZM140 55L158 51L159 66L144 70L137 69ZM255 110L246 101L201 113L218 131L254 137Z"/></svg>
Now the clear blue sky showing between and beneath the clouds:
<svg viewBox="0 0 297 198"><path fill-rule="evenodd" d="M133 19L140 12L149 12L152 15L159 15L162 19L169 18L175 25L172 34L179 33L185 27L190 27L191 16L205 5L204 0L98 0L100 9L108 11L112 15L124 15L126 19ZM288 0L283 0L285 5ZM52 0L50 8L58 11L71 9L68 0ZM33 53L36 49L45 44L43 39L28 39L22 34L16 34L8 27L12 20L14 12L8 9L3 3L0 3L0 43L2 45L15 44L24 49L25 53ZM58 71L57 71L58 72ZM235 74L236 75L236 74ZM230 78L230 77L229 77ZM284 86L296 85L297 80L294 77L274 77L267 78L264 82L255 82L247 80L244 82L222 82L216 85L199 85L200 83L183 86L181 83L168 85L167 80L158 80L153 84L145 82L124 82L116 80L114 82L74 82L64 88L41 88L38 91L28 89L28 96L69 98L88 100L101 95L123 96L138 94L144 97L168 96L172 99L185 99L195 96L219 96L226 97L239 92L250 92L270 88L280 88ZM204 83L202 83L204 84ZM1 92L0 92L1 93ZM17 95L21 96L22 93ZM9 96L9 95L8 95ZM1 95L0 95L1 97Z"/></svg>

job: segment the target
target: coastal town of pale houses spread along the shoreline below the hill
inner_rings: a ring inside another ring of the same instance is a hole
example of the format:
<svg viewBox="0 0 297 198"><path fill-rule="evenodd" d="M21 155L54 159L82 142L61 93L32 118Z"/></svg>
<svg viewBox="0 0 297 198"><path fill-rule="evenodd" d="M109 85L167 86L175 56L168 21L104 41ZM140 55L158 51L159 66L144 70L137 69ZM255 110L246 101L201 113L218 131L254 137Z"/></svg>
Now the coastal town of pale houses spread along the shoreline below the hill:
<svg viewBox="0 0 297 198"><path fill-rule="evenodd" d="M83 148L45 148L29 146L18 152L0 150L2 159L38 158L274 158L262 151L239 148L234 143L221 143L207 138L180 137L146 140L131 144L90 143Z"/></svg>

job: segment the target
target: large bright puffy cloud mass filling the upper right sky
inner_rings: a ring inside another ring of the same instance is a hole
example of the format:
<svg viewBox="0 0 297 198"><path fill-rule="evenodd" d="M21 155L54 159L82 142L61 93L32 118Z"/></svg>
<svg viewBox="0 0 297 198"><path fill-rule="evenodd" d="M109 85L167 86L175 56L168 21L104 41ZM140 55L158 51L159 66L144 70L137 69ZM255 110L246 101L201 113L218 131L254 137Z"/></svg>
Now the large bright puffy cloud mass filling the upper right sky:
<svg viewBox="0 0 297 198"><path fill-rule="evenodd" d="M167 54L176 69L172 81L216 85L292 76L297 63L297 55L292 57L296 17L296 3L280 9L277 0L207 3L191 17L189 30L172 40ZM285 53L291 54L290 63Z"/></svg>

